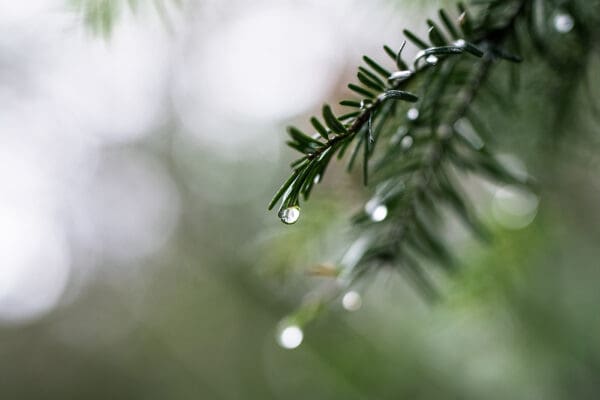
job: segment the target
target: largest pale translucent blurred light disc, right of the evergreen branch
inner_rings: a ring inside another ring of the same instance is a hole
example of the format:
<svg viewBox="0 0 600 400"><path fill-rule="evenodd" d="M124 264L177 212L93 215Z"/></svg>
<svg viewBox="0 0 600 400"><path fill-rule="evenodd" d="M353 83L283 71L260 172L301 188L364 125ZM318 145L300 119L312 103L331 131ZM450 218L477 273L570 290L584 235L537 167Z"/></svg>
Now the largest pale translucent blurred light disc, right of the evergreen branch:
<svg viewBox="0 0 600 400"><path fill-rule="evenodd" d="M514 186L496 190L492 214L496 221L508 229L522 229L533 222L539 205L538 197Z"/></svg>

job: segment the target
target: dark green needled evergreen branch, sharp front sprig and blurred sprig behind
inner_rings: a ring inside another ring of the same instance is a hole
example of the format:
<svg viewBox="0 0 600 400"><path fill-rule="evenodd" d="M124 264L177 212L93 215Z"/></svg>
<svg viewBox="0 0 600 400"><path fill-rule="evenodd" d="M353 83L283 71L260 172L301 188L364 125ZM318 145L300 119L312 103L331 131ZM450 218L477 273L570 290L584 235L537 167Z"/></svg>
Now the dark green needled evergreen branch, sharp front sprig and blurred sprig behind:
<svg viewBox="0 0 600 400"><path fill-rule="evenodd" d="M334 157L348 153L348 170L360 159L364 184L374 188L374 195L353 219L359 238L341 262L341 280L350 284L366 271L389 265L435 298L421 260L433 259L447 271L456 264L436 229L442 209L450 207L477 235L488 237L454 171L530 183L496 160L484 140L485 124L471 105L480 91L491 92L488 76L498 62L521 62L521 41L533 42L528 46L543 56L550 54L551 46L537 33L539 8L553 16L550 24L564 34L577 24L572 3L479 0L469 9L459 4L456 13L442 9L437 22L427 20L427 39L404 31L419 48L411 63L402 57L406 41L398 51L384 46L394 70L365 56L359 84L348 85L359 99L340 103L350 109L347 114L335 116L325 105L322 119L311 119L314 135L289 128L287 144L302 156L291 164L293 172L269 209L280 203L281 220L296 222L301 197L309 198Z"/></svg>

